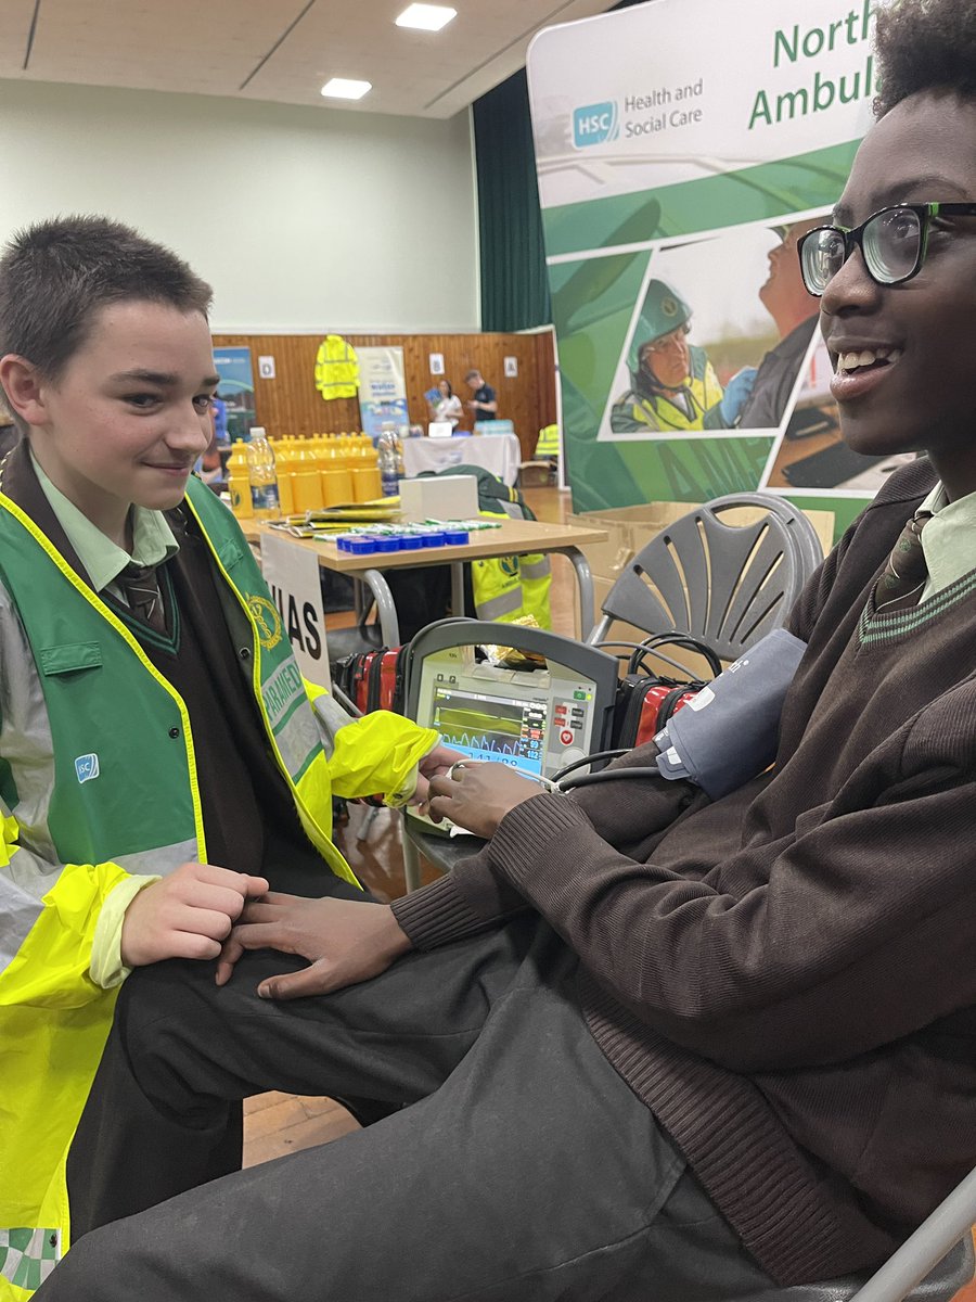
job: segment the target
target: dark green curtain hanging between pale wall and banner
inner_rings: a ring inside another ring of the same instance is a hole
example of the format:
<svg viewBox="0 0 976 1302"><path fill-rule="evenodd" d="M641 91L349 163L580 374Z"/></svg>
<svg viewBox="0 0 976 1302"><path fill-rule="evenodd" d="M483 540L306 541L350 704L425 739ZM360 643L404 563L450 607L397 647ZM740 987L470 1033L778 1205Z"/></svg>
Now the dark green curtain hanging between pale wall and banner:
<svg viewBox="0 0 976 1302"><path fill-rule="evenodd" d="M619 0L629 9L647 0ZM472 105L481 246L481 329L552 322L524 69Z"/></svg>

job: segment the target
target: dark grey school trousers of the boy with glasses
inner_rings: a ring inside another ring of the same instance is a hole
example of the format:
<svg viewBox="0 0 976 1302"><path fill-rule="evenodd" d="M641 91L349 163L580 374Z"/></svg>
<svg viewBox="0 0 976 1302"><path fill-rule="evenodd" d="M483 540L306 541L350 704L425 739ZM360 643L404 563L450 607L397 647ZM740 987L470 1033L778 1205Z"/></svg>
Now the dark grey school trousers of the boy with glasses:
<svg viewBox="0 0 976 1302"><path fill-rule="evenodd" d="M88 1178L72 1186L73 1219L103 1228L39 1302L717 1302L774 1288L600 1052L576 958L544 924L407 954L325 997L254 995L289 966L246 956L223 990L210 963L126 982L79 1131ZM224 1174L234 1100L268 1088L411 1105Z"/></svg>

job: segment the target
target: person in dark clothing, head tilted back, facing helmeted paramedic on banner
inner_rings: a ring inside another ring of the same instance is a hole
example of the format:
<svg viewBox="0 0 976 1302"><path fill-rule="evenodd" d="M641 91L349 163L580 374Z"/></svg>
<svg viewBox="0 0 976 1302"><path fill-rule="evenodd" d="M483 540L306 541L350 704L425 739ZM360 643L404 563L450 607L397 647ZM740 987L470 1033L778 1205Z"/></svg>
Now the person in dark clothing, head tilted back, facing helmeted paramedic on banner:
<svg viewBox="0 0 976 1302"><path fill-rule="evenodd" d="M782 421L817 324L817 303L803 284L796 245L822 217L794 221L769 253L769 276L759 298L776 322L779 342L759 363L752 393L739 413L743 430L774 430Z"/></svg>

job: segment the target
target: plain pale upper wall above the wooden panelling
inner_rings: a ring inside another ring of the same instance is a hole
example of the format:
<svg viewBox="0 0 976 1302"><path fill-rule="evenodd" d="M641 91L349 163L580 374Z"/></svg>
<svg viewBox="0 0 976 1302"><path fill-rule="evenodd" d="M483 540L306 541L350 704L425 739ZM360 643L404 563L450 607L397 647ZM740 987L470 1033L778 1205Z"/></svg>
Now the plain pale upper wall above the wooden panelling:
<svg viewBox="0 0 976 1302"><path fill-rule="evenodd" d="M0 240L102 212L216 290L216 332L479 329L468 115L0 81Z"/></svg>

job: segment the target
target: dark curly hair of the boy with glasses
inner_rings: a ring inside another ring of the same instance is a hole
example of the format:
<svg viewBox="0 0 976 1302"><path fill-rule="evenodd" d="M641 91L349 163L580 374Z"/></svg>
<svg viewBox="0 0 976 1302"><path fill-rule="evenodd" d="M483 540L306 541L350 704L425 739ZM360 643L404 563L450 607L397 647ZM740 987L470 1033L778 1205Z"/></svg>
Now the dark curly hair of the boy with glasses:
<svg viewBox="0 0 976 1302"><path fill-rule="evenodd" d="M973 0L891 0L878 5L874 51L877 117L919 91L954 91L976 99Z"/></svg>

